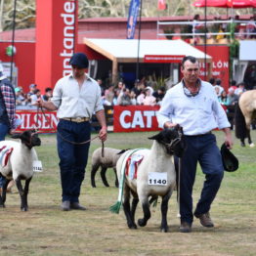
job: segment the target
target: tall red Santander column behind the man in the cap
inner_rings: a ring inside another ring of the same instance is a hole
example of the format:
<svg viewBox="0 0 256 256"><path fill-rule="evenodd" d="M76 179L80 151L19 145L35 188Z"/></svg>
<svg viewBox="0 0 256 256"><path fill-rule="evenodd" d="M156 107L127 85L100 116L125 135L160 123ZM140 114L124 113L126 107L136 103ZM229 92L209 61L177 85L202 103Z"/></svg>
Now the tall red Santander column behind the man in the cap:
<svg viewBox="0 0 256 256"><path fill-rule="evenodd" d="M78 0L36 1L35 82L54 87L70 73L68 64L77 41Z"/></svg>

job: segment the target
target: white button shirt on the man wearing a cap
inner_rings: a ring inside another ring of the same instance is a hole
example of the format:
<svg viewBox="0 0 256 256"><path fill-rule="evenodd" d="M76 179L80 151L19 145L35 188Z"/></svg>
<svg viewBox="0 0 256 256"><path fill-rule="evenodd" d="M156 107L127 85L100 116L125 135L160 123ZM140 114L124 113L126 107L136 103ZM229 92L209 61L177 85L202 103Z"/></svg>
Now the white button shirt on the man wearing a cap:
<svg viewBox="0 0 256 256"><path fill-rule="evenodd" d="M104 109L101 87L88 75L81 86L72 74L61 78L56 83L51 102L58 107L59 118L91 118L94 112Z"/></svg>

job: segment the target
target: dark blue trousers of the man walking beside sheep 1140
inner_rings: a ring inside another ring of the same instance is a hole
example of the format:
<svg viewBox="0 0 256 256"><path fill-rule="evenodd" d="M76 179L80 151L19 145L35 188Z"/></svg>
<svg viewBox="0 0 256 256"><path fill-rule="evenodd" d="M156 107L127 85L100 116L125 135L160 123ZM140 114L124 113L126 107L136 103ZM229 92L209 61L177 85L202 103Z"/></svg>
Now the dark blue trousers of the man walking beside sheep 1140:
<svg viewBox="0 0 256 256"><path fill-rule="evenodd" d="M182 157L180 214L181 222L192 224L192 187L197 162L205 175L205 181L194 214L203 214L210 210L211 203L221 186L224 168L215 135L185 136L185 140L187 149Z"/></svg>

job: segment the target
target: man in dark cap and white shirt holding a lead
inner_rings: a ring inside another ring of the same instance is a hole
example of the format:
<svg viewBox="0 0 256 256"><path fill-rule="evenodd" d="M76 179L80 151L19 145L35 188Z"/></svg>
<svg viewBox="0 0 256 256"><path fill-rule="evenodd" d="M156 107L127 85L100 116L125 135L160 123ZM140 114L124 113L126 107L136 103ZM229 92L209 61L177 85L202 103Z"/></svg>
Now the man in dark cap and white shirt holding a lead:
<svg viewBox="0 0 256 256"><path fill-rule="evenodd" d="M80 187L85 176L93 113L102 126L99 138L107 140L107 124L99 84L86 73L88 59L83 53L74 54L69 64L72 72L61 78L49 102L38 100L37 106L57 110L57 128L63 198L61 208L85 210L79 203Z"/></svg>

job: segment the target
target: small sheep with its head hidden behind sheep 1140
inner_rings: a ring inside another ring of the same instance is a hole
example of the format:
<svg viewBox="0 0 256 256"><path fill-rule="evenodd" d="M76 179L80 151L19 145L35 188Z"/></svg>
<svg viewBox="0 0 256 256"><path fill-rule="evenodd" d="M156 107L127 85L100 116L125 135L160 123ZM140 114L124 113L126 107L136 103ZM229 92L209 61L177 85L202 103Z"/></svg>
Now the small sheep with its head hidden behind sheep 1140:
<svg viewBox="0 0 256 256"><path fill-rule="evenodd" d="M109 187L107 183L107 178L106 178L106 172L107 168L113 168L114 174L115 174L115 187L118 187L118 180L116 176L116 169L115 165L120 157L121 153L123 153L126 149L111 149L111 148L105 148L104 149L104 155L102 153L102 148L95 149L93 151L92 155L92 171L91 171L91 184L93 188L96 188L95 184L95 175L101 166L101 177L104 185L106 187Z"/></svg>

